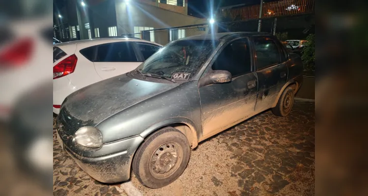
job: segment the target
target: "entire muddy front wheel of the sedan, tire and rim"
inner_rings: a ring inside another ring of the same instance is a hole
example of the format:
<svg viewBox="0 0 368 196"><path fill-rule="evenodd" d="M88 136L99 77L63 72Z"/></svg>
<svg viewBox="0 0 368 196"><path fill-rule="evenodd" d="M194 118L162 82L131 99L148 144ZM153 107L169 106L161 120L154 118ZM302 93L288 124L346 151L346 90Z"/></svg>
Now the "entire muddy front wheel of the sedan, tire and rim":
<svg viewBox="0 0 368 196"><path fill-rule="evenodd" d="M179 130L166 127L149 136L138 148L133 171L146 187L157 189L175 181L190 157L188 139Z"/></svg>

